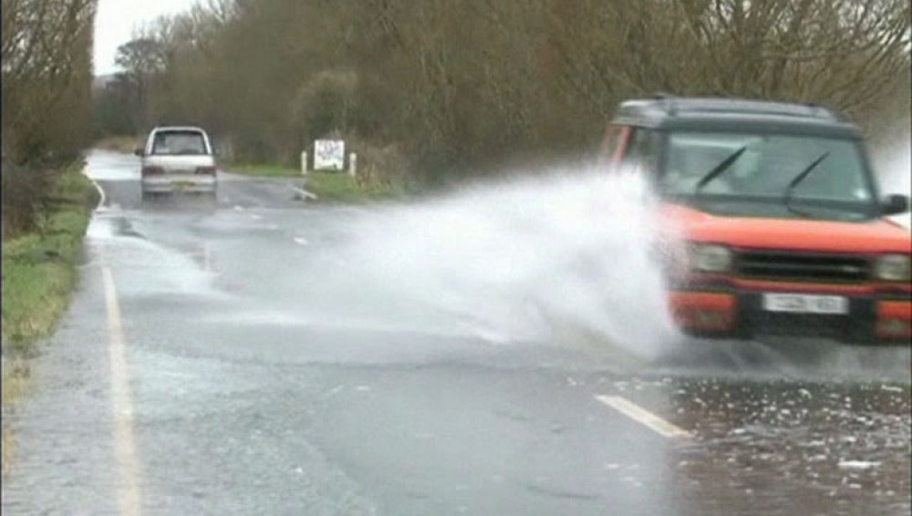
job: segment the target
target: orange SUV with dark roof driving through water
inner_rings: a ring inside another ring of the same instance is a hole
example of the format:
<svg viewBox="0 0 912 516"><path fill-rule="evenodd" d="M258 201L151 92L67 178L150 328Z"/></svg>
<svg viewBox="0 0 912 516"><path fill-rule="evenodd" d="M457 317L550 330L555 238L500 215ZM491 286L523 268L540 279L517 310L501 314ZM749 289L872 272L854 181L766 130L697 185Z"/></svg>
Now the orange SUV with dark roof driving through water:
<svg viewBox="0 0 912 516"><path fill-rule="evenodd" d="M648 173L668 228L668 302L688 334L908 343L912 239L887 217L859 129L815 105L628 100L608 126L612 170Z"/></svg>

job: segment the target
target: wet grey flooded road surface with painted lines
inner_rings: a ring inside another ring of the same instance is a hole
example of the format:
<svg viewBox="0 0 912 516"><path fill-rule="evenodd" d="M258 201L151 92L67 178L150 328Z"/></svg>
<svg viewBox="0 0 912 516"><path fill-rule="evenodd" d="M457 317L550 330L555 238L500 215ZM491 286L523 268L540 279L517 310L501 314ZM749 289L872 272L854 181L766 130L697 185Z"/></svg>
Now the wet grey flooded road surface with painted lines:
<svg viewBox="0 0 912 516"><path fill-rule="evenodd" d="M105 205L12 415L5 514L912 510L907 348L498 338L347 277L374 208L227 175L214 206L143 203L102 152L88 174Z"/></svg>

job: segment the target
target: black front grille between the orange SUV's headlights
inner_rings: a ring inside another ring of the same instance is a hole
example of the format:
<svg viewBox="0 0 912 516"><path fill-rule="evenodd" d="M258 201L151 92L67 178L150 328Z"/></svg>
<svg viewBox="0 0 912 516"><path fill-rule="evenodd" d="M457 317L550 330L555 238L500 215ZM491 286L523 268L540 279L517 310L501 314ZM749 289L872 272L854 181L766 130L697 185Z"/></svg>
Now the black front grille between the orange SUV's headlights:
<svg viewBox="0 0 912 516"><path fill-rule="evenodd" d="M746 278L814 283L861 283L871 275L864 256L744 251L736 273Z"/></svg>

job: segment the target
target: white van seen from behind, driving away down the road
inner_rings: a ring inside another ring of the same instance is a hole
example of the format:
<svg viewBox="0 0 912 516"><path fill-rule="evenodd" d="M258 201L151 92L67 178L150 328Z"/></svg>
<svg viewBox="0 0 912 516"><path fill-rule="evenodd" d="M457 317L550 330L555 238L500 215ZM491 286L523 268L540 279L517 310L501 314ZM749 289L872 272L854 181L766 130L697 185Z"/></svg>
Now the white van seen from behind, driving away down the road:
<svg viewBox="0 0 912 516"><path fill-rule="evenodd" d="M142 196L174 191L215 194L217 170L212 141L195 127L152 129L141 160Z"/></svg>

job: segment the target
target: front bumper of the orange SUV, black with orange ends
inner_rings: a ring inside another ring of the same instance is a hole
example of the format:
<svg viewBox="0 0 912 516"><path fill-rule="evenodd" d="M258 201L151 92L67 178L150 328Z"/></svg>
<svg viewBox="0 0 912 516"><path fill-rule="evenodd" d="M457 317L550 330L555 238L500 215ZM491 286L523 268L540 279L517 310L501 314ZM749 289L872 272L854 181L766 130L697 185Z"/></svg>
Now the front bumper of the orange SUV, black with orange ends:
<svg viewBox="0 0 912 516"><path fill-rule="evenodd" d="M674 291L671 314L690 335L750 339L762 335L824 337L849 343L908 343L912 338L912 299L847 295L847 315L763 310L762 292ZM810 293L809 293L810 294Z"/></svg>

